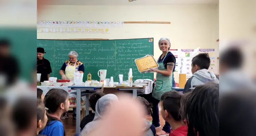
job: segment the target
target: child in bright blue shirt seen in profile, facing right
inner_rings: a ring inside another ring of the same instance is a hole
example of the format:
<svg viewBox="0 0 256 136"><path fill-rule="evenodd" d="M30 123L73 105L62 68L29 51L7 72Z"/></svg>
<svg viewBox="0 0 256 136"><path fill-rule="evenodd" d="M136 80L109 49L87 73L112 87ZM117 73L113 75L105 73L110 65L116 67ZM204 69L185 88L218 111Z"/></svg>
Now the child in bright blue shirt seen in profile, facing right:
<svg viewBox="0 0 256 136"><path fill-rule="evenodd" d="M68 111L69 94L63 89L50 89L44 97L45 107L48 108L48 121L40 132L47 136L66 136L60 116Z"/></svg>

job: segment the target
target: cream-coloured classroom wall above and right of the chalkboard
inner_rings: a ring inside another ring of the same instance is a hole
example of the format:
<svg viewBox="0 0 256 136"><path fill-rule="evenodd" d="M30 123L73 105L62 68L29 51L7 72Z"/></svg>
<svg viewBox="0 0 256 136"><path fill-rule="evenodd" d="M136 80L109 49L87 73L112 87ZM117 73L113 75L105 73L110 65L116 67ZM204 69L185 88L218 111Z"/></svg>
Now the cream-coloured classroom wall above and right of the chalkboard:
<svg viewBox="0 0 256 136"><path fill-rule="evenodd" d="M172 49L215 48L218 50L218 8L216 5L163 6L48 6L39 21L170 21L171 24L125 24L110 34L38 33L38 39L154 38L154 56L161 51L158 39L171 39ZM177 75L175 74L176 81Z"/></svg>

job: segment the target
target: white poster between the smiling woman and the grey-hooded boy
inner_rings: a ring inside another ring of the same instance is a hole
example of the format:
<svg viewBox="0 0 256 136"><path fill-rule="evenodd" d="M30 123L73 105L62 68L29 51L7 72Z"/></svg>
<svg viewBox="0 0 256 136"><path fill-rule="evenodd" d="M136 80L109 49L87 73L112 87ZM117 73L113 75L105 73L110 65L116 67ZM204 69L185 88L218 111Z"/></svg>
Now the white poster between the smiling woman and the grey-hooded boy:
<svg viewBox="0 0 256 136"><path fill-rule="evenodd" d="M186 74L187 78L192 76L191 61L197 55L194 49L179 49L178 50L178 74Z"/></svg>

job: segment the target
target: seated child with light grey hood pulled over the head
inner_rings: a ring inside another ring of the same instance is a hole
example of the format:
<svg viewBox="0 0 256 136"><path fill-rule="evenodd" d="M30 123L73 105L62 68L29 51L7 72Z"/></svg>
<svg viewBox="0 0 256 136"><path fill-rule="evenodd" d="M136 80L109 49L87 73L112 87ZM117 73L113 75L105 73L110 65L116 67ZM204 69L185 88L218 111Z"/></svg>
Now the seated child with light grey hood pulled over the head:
<svg viewBox="0 0 256 136"><path fill-rule="evenodd" d="M96 103L95 108L95 117L92 122L88 123L80 133L80 136L90 135L91 132L97 129L100 125L100 121L103 120L104 113L106 112L108 106L110 106L111 102L117 101L118 98L114 94L107 94ZM104 135L104 134L103 134Z"/></svg>

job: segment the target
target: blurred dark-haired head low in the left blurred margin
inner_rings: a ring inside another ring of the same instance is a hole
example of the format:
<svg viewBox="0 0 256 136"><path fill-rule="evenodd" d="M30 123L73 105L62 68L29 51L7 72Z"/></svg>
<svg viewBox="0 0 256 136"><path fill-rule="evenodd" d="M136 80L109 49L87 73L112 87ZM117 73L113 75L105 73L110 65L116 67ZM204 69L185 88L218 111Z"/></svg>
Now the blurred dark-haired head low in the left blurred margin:
<svg viewBox="0 0 256 136"><path fill-rule="evenodd" d="M12 119L16 125L17 132L27 130L32 123L32 119L36 117L36 99L35 98L19 98L14 107Z"/></svg>

